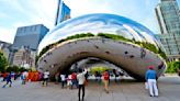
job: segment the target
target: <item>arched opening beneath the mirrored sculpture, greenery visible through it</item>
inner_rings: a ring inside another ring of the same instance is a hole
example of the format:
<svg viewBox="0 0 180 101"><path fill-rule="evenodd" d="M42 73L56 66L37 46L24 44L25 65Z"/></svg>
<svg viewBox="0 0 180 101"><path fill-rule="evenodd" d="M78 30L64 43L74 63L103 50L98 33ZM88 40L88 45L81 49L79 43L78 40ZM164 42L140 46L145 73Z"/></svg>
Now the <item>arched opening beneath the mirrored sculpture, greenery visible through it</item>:
<svg viewBox="0 0 180 101"><path fill-rule="evenodd" d="M69 68L68 68L69 67ZM120 65L115 65L111 61L106 61L104 59L101 58L97 58L97 57L85 57L81 58L72 64L69 64L69 66L67 66L67 68L65 69L59 69L57 70L57 72L64 72L64 74L68 74L69 71L76 71L78 72L79 68L81 69L89 69L89 74L94 74L93 70L94 68L97 70L99 70L99 72L103 72L104 70L109 70L111 74L115 75L113 70L116 70L117 72L124 74L125 76L130 76ZM99 68L99 69L98 69ZM95 71L97 71L95 70Z"/></svg>

